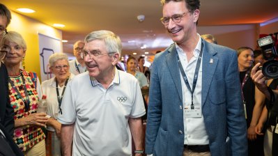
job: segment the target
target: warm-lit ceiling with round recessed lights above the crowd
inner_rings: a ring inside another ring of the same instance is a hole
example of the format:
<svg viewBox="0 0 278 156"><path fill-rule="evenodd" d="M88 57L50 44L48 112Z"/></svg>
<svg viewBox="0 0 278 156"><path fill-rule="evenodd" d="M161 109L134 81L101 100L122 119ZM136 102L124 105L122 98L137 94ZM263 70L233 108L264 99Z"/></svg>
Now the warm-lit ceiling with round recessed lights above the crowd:
<svg viewBox="0 0 278 156"><path fill-rule="evenodd" d="M71 53L76 40L84 40L91 31L106 29L121 37L123 54L137 52L155 54L171 43L160 22L160 0L1 0L17 12L17 8L31 8L24 14L48 25L65 24L64 52ZM278 17L278 0L201 0L199 26L256 24ZM18 12L17 12L18 13ZM137 15L145 15L144 22ZM146 45L146 49L140 47Z"/></svg>

